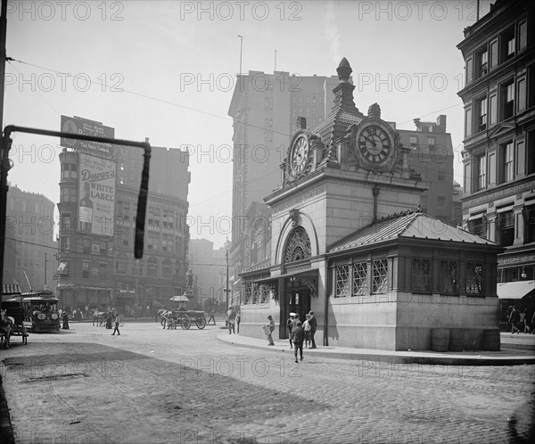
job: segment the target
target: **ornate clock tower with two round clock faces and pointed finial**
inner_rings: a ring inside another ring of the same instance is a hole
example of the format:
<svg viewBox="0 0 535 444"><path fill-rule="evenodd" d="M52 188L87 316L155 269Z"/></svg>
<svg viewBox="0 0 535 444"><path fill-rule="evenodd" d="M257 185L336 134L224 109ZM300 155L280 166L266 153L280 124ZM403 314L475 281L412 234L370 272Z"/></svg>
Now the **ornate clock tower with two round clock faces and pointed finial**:
<svg viewBox="0 0 535 444"><path fill-rule="evenodd" d="M374 220L415 208L428 187L411 175L410 150L399 143L395 126L381 118L379 105L372 104L367 115L358 111L347 59L337 72L331 113L314 129L298 119L300 127L281 165L282 185L265 199L273 209L276 260L284 258L291 226L303 226L313 249L323 254L328 245ZM314 223L307 227L307 220Z"/></svg>

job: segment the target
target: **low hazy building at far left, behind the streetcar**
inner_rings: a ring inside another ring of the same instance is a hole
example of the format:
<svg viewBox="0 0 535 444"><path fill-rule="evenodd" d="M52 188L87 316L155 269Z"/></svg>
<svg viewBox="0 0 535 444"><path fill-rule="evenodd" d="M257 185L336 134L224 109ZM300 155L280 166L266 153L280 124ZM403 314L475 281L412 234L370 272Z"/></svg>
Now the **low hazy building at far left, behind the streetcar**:
<svg viewBox="0 0 535 444"><path fill-rule="evenodd" d="M53 207L53 201L43 194L24 192L16 185L10 187L5 255L11 255L13 246L16 252L14 258L5 262L5 284L18 283L25 292L55 286L52 279L56 265Z"/></svg>

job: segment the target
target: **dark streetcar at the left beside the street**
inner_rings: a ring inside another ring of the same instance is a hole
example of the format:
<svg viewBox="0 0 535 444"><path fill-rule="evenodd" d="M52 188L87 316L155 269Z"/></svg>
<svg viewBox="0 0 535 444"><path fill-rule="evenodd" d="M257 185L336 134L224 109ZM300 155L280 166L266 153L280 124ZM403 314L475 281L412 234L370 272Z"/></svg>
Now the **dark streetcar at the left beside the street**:
<svg viewBox="0 0 535 444"><path fill-rule="evenodd" d="M59 300L51 290L22 293L21 302L24 307L24 324L32 333L60 330Z"/></svg>

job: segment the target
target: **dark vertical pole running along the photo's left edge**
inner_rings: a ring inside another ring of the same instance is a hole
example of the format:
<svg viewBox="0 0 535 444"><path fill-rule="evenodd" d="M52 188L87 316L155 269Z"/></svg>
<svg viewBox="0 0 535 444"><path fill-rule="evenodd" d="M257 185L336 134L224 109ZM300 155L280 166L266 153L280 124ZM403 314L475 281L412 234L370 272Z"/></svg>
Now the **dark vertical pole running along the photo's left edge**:
<svg viewBox="0 0 535 444"><path fill-rule="evenodd" d="M7 34L7 0L2 0L2 17L0 17L0 132L4 128L4 85L5 85L5 38ZM4 289L4 248L5 219L7 212L7 171L11 169L9 150L11 144L0 148L0 292Z"/></svg>

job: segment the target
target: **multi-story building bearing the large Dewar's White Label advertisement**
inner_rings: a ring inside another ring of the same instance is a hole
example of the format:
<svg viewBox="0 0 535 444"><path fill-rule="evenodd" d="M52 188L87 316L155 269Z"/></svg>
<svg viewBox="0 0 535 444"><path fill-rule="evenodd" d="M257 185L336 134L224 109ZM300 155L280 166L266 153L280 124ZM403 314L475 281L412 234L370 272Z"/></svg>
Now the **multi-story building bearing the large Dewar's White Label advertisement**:
<svg viewBox="0 0 535 444"><path fill-rule="evenodd" d="M142 152L88 153L60 154L58 296L66 308L151 312L185 288L188 154L152 147L144 257L136 260Z"/></svg>

